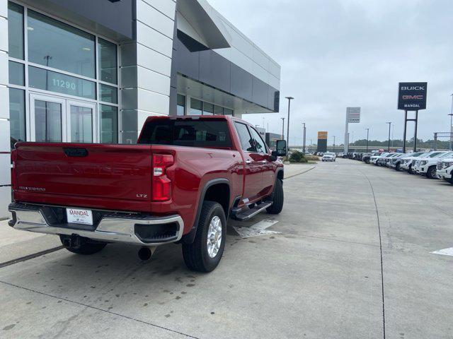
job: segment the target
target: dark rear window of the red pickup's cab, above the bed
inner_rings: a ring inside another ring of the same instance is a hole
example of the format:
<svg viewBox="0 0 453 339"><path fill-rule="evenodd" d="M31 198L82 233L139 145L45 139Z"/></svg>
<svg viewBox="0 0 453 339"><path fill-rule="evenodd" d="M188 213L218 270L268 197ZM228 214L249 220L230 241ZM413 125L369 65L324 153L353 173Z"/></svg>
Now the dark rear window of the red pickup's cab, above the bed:
<svg viewBox="0 0 453 339"><path fill-rule="evenodd" d="M231 148L225 120L156 119L144 126L140 144Z"/></svg>

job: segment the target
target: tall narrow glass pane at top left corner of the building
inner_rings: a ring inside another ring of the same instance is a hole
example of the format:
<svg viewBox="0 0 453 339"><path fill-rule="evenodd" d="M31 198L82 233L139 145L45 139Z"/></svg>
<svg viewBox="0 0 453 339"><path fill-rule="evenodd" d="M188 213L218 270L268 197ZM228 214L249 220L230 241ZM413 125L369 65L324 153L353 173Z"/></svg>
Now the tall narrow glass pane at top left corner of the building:
<svg viewBox="0 0 453 339"><path fill-rule="evenodd" d="M23 59L23 7L8 2L8 54Z"/></svg>

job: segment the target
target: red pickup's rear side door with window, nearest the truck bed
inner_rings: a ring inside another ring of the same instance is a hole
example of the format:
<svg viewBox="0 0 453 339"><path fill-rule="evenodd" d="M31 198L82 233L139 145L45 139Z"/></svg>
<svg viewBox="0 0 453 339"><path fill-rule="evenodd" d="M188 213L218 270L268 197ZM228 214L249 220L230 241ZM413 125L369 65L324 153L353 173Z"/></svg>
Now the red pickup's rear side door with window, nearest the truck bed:
<svg viewBox="0 0 453 339"><path fill-rule="evenodd" d="M243 196L240 203L242 204L255 201L260 196L263 179L263 159L257 153L256 145L253 142L250 131L248 131L248 126L237 121L234 122L234 126L236 127L239 141L241 141L243 160L245 162Z"/></svg>

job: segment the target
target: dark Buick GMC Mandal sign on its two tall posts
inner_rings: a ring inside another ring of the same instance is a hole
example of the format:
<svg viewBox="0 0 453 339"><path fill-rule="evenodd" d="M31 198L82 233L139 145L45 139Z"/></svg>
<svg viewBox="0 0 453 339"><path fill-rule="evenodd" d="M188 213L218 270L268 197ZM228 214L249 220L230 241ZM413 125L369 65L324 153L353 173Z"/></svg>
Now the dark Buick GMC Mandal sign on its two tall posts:
<svg viewBox="0 0 453 339"><path fill-rule="evenodd" d="M413 151L417 151L418 111L426 109L428 83L399 83L398 109L404 110L403 153L406 153L406 134L408 121L415 122ZM408 119L408 112L415 111L415 119Z"/></svg>

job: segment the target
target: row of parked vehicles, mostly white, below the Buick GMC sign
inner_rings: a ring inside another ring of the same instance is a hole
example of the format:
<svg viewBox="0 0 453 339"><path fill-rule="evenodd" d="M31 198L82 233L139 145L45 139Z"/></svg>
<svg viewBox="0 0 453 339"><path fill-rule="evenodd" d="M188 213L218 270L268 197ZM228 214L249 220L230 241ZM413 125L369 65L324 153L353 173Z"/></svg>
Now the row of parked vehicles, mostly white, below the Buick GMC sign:
<svg viewBox="0 0 453 339"><path fill-rule="evenodd" d="M414 153L351 153L350 159L367 164L391 167L397 171L420 174L430 179L443 179L453 184L453 151L432 150Z"/></svg>

